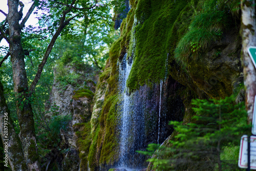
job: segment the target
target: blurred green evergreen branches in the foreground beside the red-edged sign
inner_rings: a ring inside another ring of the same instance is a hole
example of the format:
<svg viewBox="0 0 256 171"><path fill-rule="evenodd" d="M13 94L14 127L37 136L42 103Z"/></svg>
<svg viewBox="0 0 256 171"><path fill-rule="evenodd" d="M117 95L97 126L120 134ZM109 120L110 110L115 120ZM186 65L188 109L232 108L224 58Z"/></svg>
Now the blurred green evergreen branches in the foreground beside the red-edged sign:
<svg viewBox="0 0 256 171"><path fill-rule="evenodd" d="M239 142L250 131L244 103L225 99L193 100L196 115L192 122L171 121L179 133L169 147L148 145L148 159L163 170L236 170ZM155 150L157 151L155 152ZM232 157L231 157L232 156Z"/></svg>

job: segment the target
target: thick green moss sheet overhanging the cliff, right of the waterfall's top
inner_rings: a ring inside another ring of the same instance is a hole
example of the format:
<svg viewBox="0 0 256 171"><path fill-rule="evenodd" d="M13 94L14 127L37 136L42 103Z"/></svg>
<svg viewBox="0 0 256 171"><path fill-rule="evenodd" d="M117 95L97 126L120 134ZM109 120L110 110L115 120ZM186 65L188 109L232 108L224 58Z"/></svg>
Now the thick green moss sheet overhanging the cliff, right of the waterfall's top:
<svg viewBox="0 0 256 171"><path fill-rule="evenodd" d="M135 58L127 81L131 91L144 84L152 86L154 82L164 79L169 38L172 37L176 19L186 5L187 1L181 0L138 2L136 17L140 24L135 27Z"/></svg>

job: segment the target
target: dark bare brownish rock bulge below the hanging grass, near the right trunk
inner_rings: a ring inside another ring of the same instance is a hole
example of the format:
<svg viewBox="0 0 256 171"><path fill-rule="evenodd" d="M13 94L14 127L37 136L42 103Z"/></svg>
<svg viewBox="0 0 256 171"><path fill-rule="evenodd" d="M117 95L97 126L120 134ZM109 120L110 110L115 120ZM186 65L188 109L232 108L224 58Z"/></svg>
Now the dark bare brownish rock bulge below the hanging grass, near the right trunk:
<svg viewBox="0 0 256 171"><path fill-rule="evenodd" d="M202 58L188 63L188 73L195 86L210 98L231 95L243 82L240 52L239 30L232 28L221 41L212 42Z"/></svg>

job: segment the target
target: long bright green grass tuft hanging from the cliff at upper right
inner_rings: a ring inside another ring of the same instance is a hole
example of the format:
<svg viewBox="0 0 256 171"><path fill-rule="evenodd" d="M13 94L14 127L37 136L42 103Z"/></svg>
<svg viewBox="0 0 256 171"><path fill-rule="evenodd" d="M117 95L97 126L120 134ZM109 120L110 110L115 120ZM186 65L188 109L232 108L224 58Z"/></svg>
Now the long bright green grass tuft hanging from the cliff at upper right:
<svg viewBox="0 0 256 171"><path fill-rule="evenodd" d="M209 47L212 41L222 38L223 31L233 25L233 8L236 8L239 1L200 1L195 7L194 1L190 6L194 9L191 23L186 34L179 41L175 50L177 61L186 63L190 59L198 59L201 54Z"/></svg>

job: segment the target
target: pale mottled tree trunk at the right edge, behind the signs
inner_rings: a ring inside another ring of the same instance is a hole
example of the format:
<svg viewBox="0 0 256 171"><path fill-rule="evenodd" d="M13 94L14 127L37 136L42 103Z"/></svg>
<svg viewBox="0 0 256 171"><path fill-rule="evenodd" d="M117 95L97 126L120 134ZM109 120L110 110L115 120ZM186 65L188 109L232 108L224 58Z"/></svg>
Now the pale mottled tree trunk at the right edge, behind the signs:
<svg viewBox="0 0 256 171"><path fill-rule="evenodd" d="M252 121L254 97L256 94L256 70L250 59L247 48L256 46L255 37L255 2L254 0L241 0L242 9L242 58L244 67L244 85L245 85L245 99L246 108L248 112L248 122Z"/></svg>

